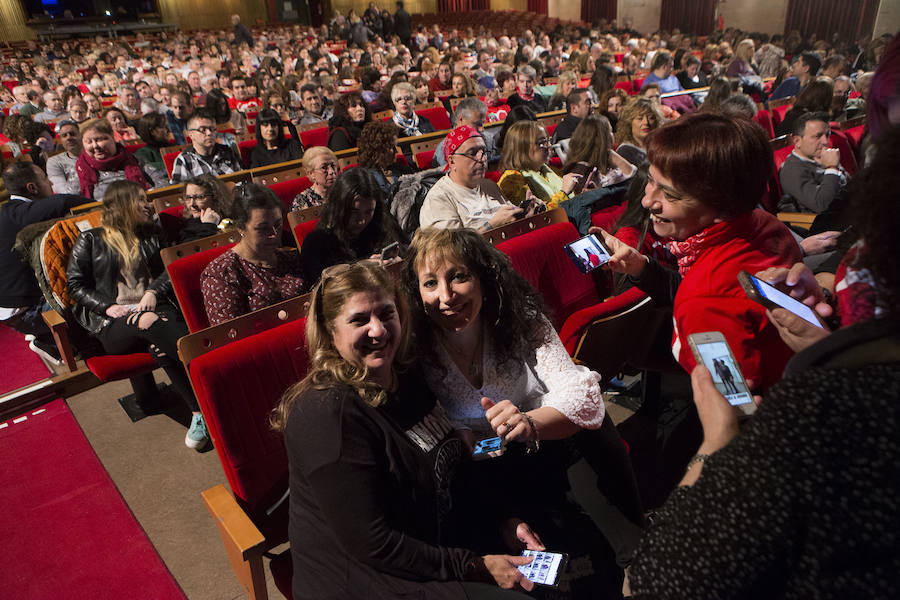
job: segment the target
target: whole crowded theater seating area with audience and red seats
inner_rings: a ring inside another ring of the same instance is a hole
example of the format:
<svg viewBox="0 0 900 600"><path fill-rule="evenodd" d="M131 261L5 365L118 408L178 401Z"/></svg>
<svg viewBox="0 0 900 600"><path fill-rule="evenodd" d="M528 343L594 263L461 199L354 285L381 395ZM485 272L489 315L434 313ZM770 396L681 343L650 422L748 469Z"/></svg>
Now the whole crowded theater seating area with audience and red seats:
<svg viewBox="0 0 900 600"><path fill-rule="evenodd" d="M0 48L6 406L251 598L896 597L900 36L390 8Z"/></svg>

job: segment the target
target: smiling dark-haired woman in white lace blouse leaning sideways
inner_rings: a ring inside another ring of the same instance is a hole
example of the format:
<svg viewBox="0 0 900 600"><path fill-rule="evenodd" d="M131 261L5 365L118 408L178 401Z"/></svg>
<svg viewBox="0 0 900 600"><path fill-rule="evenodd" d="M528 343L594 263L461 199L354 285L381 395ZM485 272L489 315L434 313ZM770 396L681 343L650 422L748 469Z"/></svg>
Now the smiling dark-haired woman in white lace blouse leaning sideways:
<svg viewBox="0 0 900 600"><path fill-rule="evenodd" d="M643 521L634 474L606 415L600 375L572 362L539 295L470 229L420 229L403 285L416 355L448 417L470 444L492 436L514 442L502 457L479 462L475 476L486 486L504 482L522 503L523 518L534 523L564 504L562 491L569 488L586 510L614 505L615 518L594 524L607 538L623 540L616 551L627 563ZM540 528L549 535L550 525ZM593 545L598 552L608 548L602 535ZM600 589L620 593L622 572L612 559L594 563Z"/></svg>

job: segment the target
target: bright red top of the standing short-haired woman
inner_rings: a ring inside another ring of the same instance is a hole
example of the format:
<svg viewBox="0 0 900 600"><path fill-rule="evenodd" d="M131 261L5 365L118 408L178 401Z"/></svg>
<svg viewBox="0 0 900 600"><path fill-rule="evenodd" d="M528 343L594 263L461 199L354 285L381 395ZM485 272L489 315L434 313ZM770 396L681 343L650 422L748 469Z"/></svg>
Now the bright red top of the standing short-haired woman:
<svg viewBox="0 0 900 600"><path fill-rule="evenodd" d="M691 372L696 361L688 336L720 331L744 377L754 388L767 389L781 379L793 353L769 323L765 307L744 293L737 274L790 267L802 259L800 246L783 223L758 209L717 223L681 244L688 242L693 244L693 261L673 248L684 279L675 294L672 353Z"/></svg>

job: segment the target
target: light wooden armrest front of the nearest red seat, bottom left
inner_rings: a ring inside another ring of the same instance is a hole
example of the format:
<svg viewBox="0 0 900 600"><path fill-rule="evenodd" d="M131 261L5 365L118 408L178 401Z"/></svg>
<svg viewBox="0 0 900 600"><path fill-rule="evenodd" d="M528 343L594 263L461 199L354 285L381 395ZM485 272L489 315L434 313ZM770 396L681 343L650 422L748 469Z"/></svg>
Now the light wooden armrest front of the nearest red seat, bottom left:
<svg viewBox="0 0 900 600"><path fill-rule="evenodd" d="M262 560L266 538L224 485L209 488L200 495L216 520L231 568L247 595L251 600L267 600Z"/></svg>

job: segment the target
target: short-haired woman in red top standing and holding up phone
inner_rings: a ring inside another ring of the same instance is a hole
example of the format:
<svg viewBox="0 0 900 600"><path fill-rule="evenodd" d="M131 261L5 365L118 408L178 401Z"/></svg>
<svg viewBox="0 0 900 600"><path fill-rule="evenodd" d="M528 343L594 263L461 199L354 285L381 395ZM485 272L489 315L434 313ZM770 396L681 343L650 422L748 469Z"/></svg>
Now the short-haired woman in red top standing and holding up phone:
<svg viewBox="0 0 900 600"><path fill-rule="evenodd" d="M720 331L744 376L769 387L781 378L791 351L737 274L789 267L802 255L787 227L756 208L772 173L765 134L745 119L687 115L651 132L647 158L642 204L656 235L672 240L678 272L603 232L614 251L610 267L658 302L672 302L672 353L685 370L695 366L688 336Z"/></svg>

